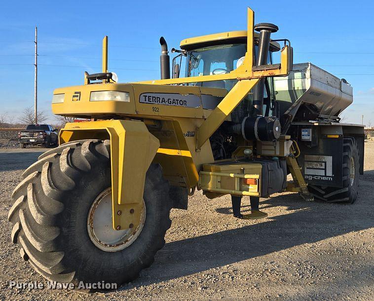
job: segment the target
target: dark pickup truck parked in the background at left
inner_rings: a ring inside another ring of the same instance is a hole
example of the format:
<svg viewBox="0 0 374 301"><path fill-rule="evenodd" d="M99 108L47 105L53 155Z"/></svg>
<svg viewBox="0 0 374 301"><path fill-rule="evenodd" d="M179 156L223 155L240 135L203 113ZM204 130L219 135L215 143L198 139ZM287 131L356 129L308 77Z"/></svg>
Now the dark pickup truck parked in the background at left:
<svg viewBox="0 0 374 301"><path fill-rule="evenodd" d="M55 146L57 145L57 136L57 130L47 124L31 124L26 127L26 130L18 132L21 148L25 148L27 145Z"/></svg>

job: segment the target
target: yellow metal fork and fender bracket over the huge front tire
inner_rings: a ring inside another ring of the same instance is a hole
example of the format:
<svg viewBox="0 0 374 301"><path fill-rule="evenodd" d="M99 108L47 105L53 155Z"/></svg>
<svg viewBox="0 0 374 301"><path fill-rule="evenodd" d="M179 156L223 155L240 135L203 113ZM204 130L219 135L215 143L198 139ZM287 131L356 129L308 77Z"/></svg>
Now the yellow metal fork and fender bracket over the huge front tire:
<svg viewBox="0 0 374 301"><path fill-rule="evenodd" d="M146 173L159 148L143 122L105 120L68 123L60 131L60 144L81 139L111 140L112 227L135 228L143 211Z"/></svg>

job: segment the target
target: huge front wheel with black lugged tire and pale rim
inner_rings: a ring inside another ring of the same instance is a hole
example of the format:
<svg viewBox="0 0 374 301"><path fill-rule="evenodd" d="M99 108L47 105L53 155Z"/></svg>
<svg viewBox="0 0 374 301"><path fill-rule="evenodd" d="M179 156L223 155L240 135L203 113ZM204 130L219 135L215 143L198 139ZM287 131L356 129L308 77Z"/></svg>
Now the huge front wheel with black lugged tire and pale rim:
<svg viewBox="0 0 374 301"><path fill-rule="evenodd" d="M48 280L119 286L163 247L171 202L161 167L147 171L139 227L114 231L110 162L109 140L65 143L41 155L13 191L11 239Z"/></svg>

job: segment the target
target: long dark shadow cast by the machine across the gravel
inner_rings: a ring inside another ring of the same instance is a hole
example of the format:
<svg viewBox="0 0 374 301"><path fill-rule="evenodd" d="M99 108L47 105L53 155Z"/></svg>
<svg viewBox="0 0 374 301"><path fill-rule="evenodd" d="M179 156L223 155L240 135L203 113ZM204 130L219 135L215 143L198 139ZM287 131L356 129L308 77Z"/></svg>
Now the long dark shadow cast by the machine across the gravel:
<svg viewBox="0 0 374 301"><path fill-rule="evenodd" d="M157 253L151 268L142 271L140 278L121 289L168 281L374 227L370 215L354 218L348 210L349 205L306 202L300 200L297 194L280 195L260 203L262 209L266 206L286 206L287 209L282 209L281 215L269 216L266 220L249 221L251 225L242 228L166 243ZM249 206L242 208L242 211L245 210L249 210ZM222 213L227 211L229 209L222 209ZM315 217L318 215L317 222ZM337 218L346 220L344 226L335 226Z"/></svg>

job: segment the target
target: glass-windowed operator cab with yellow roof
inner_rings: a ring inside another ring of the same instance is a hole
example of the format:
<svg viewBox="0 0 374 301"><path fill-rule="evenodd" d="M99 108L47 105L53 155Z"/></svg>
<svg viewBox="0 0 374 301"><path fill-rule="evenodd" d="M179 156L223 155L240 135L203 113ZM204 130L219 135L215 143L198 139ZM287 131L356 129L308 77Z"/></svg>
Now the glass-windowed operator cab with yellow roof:
<svg viewBox="0 0 374 301"><path fill-rule="evenodd" d="M255 37L255 61L258 53L259 34ZM247 52L247 32L236 31L226 33L216 33L187 38L180 44L182 55L186 56L185 77L225 74L239 67ZM277 42L270 42L267 64L273 64L272 53L280 50ZM173 70L175 69L175 59L173 60ZM175 74L175 73L174 73ZM176 76L176 75L175 75ZM178 75L177 75L178 76ZM211 87L230 91L236 84L236 79L216 80L207 82L196 82L189 85L199 87ZM267 78L264 89L263 116L276 115L274 112L274 84L271 77ZM250 93L237 109L231 114L233 121L242 118L243 114L251 115L252 94Z"/></svg>

